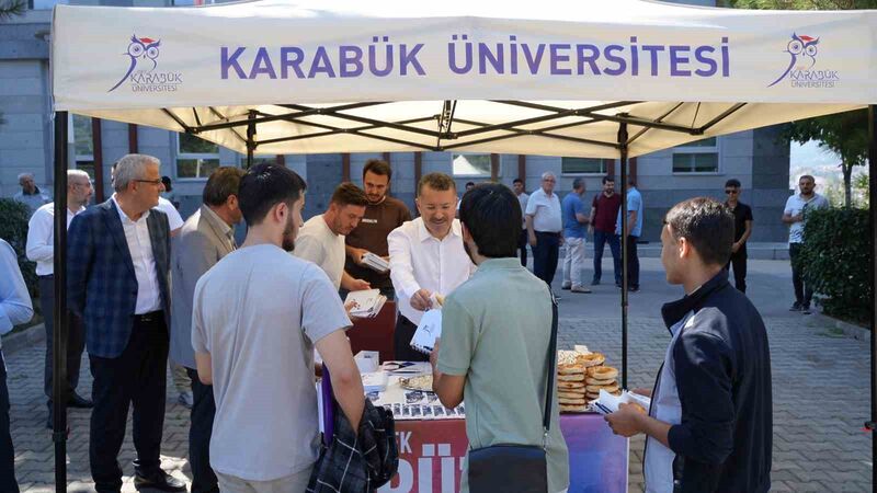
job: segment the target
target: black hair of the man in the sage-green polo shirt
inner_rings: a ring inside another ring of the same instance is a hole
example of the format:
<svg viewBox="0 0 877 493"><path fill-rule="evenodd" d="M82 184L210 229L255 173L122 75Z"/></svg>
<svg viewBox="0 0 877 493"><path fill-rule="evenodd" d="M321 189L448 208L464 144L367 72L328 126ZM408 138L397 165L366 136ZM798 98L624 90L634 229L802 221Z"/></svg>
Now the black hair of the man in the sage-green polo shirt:
<svg viewBox="0 0 877 493"><path fill-rule="evenodd" d="M486 183L463 196L459 220L478 253L489 259L515 256L521 238L521 203L508 186Z"/></svg>

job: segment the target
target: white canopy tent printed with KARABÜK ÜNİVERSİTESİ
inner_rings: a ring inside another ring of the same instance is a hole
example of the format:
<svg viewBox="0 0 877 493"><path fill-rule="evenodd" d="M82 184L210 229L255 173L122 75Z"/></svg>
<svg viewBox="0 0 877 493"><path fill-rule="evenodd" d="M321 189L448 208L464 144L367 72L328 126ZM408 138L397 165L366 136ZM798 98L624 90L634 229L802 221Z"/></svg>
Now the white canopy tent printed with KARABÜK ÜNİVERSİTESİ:
<svg viewBox="0 0 877 493"><path fill-rule="evenodd" d="M455 149L626 162L877 103L877 11L640 0L58 5L52 71L56 142L66 141L59 116L73 112L250 157ZM56 204L66 165L56 145ZM65 232L58 219L56 320L66 313ZM623 289L625 366L626 307ZM66 344L66 322L56 326ZM55 357L58 375L65 352ZM64 416L56 411L56 429Z"/></svg>

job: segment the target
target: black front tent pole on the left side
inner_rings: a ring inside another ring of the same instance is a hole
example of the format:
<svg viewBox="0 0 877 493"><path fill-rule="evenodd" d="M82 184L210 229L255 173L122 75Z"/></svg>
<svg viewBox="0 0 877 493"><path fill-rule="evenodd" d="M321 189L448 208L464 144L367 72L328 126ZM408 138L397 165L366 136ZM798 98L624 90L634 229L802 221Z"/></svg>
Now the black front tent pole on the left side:
<svg viewBox="0 0 877 493"><path fill-rule="evenodd" d="M55 113L55 326L52 402L55 491L67 491L67 112Z"/></svg>

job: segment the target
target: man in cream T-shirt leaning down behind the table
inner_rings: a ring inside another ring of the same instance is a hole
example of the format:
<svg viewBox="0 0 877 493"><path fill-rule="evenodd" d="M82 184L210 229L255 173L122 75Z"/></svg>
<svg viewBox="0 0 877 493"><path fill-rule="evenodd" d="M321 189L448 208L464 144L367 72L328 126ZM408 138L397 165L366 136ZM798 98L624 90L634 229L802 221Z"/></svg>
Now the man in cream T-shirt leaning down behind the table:
<svg viewBox="0 0 877 493"><path fill-rule="evenodd" d="M314 262L329 276L335 290L368 289L368 283L354 279L344 272L344 237L350 234L365 215L368 197L353 183L338 185L326 213L305 222L295 242L293 254Z"/></svg>

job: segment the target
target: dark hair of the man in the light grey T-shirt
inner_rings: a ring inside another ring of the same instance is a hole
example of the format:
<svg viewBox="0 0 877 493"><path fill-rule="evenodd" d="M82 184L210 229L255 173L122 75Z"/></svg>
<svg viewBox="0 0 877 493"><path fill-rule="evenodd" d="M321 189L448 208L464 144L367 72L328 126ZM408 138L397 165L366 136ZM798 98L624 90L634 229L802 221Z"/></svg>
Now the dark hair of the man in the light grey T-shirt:
<svg viewBox="0 0 877 493"><path fill-rule="evenodd" d="M295 171L275 163L257 164L240 179L238 202L243 220L258 226L275 205L292 207L305 190L307 184Z"/></svg>

